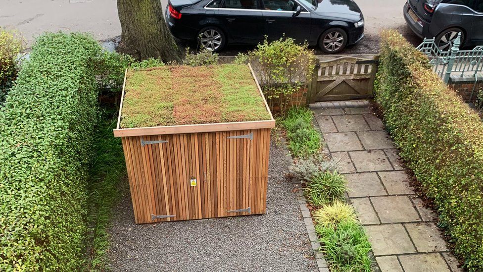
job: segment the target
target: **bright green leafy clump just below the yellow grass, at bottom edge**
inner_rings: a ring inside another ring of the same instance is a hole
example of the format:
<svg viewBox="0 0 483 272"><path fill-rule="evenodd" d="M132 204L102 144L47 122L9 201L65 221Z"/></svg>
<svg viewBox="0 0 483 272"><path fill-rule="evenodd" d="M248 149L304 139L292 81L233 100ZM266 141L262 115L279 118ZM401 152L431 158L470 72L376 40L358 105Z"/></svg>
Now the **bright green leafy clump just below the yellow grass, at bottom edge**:
<svg viewBox="0 0 483 272"><path fill-rule="evenodd" d="M364 228L354 221L341 221L336 227L315 227L324 254L334 272L370 272L371 244Z"/></svg>

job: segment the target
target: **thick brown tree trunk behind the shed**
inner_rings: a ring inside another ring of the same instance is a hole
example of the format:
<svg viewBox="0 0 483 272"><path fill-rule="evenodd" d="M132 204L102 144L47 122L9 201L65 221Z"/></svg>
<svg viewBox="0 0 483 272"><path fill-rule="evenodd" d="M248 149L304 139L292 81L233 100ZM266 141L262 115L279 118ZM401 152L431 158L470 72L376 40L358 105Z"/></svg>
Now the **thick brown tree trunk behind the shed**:
<svg viewBox="0 0 483 272"><path fill-rule="evenodd" d="M117 0L121 21L119 52L141 60L181 62L181 51L163 17L160 0Z"/></svg>

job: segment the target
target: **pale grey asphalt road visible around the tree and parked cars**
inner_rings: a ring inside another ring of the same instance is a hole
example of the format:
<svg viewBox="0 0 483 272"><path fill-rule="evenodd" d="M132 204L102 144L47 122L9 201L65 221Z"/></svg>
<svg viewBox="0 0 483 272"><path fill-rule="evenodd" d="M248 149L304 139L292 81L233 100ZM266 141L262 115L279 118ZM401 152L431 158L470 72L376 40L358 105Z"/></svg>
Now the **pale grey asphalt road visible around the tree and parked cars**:
<svg viewBox="0 0 483 272"><path fill-rule="evenodd" d="M411 43L421 39L406 26L402 16L405 0L355 0L361 8L366 37L343 54L377 53L378 33L385 28L401 32ZM167 0L161 0L163 7ZM116 0L0 0L0 26L23 33L29 45L45 31L91 32L98 40L120 35ZM254 47L229 46L222 55L236 55ZM316 54L323 54L314 48Z"/></svg>

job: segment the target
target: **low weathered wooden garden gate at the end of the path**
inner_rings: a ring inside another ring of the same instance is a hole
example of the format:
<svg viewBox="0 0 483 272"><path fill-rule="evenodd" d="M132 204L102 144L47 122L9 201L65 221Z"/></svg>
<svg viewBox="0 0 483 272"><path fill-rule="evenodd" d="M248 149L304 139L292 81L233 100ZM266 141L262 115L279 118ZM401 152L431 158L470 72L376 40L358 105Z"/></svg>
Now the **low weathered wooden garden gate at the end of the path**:
<svg viewBox="0 0 483 272"><path fill-rule="evenodd" d="M343 56L328 61L316 61L315 75L307 90L307 101L339 101L365 99L373 95L378 67L374 59Z"/></svg>

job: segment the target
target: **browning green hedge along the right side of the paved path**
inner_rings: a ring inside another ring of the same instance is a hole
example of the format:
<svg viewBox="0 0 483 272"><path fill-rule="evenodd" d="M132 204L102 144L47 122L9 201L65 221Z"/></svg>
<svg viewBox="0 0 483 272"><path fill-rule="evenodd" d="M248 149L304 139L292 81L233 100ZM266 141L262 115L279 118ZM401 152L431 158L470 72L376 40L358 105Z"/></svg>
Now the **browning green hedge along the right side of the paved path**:
<svg viewBox="0 0 483 272"><path fill-rule="evenodd" d="M384 32L376 100L440 225L470 271L483 271L483 123L400 34Z"/></svg>

